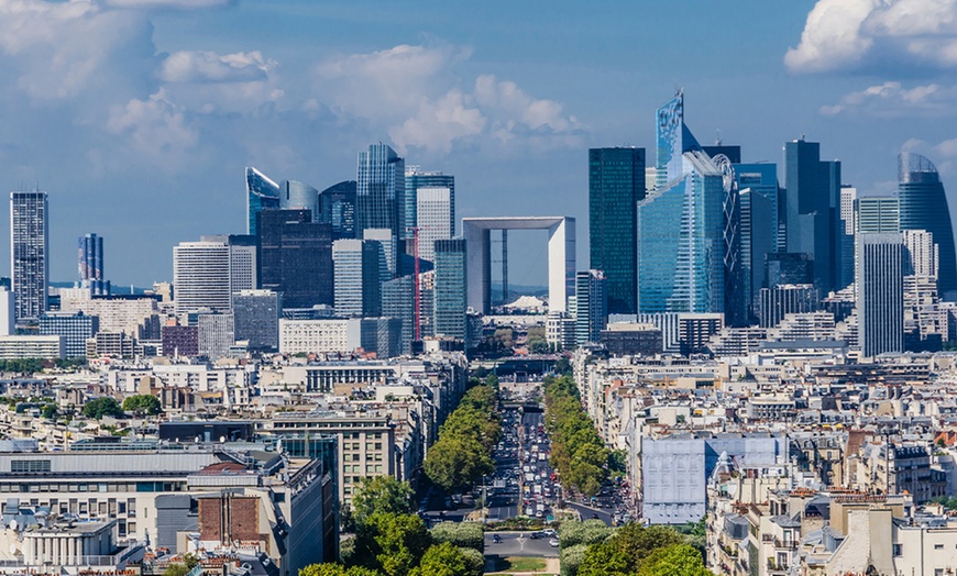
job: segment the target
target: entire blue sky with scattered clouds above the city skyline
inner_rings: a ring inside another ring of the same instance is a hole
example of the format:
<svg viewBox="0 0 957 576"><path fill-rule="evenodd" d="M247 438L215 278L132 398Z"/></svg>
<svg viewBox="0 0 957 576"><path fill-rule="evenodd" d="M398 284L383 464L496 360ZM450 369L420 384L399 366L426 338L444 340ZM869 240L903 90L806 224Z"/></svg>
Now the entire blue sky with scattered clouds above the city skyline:
<svg viewBox="0 0 957 576"><path fill-rule="evenodd" d="M957 0L0 0L0 168L51 193L54 280L87 232L114 285L168 280L175 243L244 231L244 166L321 189L380 141L454 174L460 217L578 217L584 268L586 149L653 157L675 87L746 162L805 134L886 193L906 148L953 192L955 71Z"/></svg>

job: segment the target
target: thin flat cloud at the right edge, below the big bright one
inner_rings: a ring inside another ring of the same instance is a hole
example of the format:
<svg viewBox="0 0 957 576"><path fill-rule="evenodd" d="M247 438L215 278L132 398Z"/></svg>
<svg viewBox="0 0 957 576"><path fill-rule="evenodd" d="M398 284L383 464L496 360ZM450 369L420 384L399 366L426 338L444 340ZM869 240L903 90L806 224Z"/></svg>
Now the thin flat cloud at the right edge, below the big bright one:
<svg viewBox="0 0 957 576"><path fill-rule="evenodd" d="M821 113L879 118L953 115L957 113L957 86L930 84L904 88L901 82L888 81L851 92L836 104L822 107Z"/></svg>

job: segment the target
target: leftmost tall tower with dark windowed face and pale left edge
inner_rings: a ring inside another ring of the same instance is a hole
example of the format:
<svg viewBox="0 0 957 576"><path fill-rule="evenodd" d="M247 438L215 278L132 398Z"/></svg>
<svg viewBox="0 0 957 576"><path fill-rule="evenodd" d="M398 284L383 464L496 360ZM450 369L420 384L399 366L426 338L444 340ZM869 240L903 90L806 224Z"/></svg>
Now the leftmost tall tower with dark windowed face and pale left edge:
<svg viewBox="0 0 957 576"><path fill-rule="evenodd" d="M10 275L16 295L16 322L46 312L50 230L46 192L10 192Z"/></svg>

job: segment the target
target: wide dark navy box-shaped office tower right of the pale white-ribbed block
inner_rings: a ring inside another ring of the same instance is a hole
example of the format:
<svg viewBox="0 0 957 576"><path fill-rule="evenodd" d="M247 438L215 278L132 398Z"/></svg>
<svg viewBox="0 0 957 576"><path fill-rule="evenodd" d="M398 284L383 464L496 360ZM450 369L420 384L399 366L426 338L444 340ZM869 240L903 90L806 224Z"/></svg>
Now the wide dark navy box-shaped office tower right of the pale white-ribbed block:
<svg viewBox="0 0 957 576"><path fill-rule="evenodd" d="M260 228L260 287L283 295L283 306L332 306L332 226L304 209L264 210Z"/></svg>

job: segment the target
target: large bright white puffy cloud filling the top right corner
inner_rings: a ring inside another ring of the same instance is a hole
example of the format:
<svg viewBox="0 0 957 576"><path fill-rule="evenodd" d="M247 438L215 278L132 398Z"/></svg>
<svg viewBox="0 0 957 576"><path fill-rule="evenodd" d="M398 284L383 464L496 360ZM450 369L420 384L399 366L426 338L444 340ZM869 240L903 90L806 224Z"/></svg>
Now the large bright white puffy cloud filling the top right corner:
<svg viewBox="0 0 957 576"><path fill-rule="evenodd" d="M954 0L818 0L801 43L784 55L792 73L876 66L957 66Z"/></svg>

